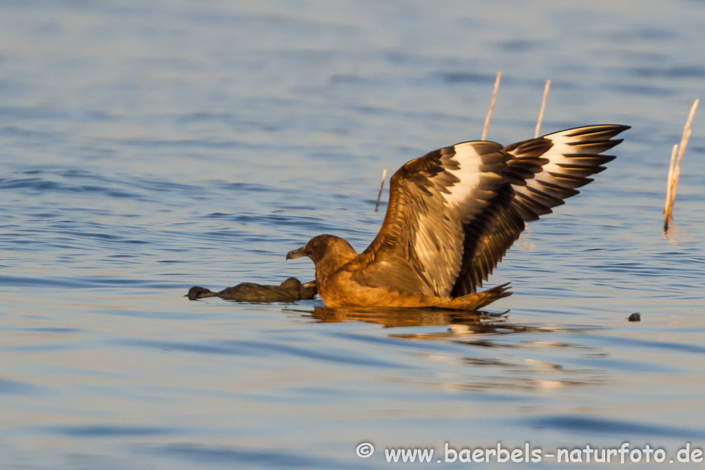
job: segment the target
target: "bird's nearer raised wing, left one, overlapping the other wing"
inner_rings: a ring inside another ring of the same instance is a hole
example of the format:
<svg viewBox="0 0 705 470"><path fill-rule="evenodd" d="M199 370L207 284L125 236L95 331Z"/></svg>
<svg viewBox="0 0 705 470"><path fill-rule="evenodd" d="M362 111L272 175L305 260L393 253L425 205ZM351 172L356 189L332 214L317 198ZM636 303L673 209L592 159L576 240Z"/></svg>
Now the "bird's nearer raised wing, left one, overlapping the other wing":
<svg viewBox="0 0 705 470"><path fill-rule="evenodd" d="M370 287L448 297L463 263L464 226L506 184L509 154L463 142L405 163L390 180L384 223L348 269Z"/></svg>

